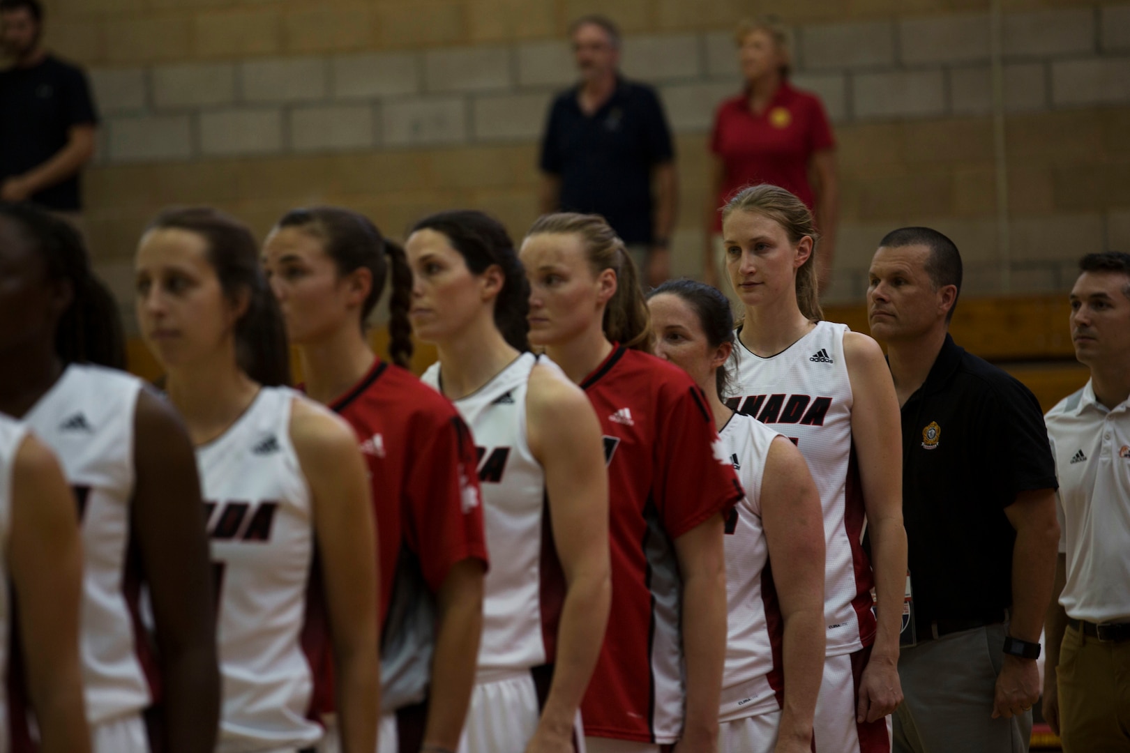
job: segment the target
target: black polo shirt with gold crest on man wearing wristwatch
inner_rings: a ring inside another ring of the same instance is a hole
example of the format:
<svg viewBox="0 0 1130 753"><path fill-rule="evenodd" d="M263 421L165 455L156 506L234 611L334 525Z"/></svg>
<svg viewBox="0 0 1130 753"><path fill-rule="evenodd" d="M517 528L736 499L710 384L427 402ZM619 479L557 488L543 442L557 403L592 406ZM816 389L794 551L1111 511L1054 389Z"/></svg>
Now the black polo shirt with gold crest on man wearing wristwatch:
<svg viewBox="0 0 1130 753"><path fill-rule="evenodd" d="M947 334L902 420L919 634L933 620L999 621L1012 603L1016 541L1005 508L1018 492L1059 485L1040 403Z"/></svg>

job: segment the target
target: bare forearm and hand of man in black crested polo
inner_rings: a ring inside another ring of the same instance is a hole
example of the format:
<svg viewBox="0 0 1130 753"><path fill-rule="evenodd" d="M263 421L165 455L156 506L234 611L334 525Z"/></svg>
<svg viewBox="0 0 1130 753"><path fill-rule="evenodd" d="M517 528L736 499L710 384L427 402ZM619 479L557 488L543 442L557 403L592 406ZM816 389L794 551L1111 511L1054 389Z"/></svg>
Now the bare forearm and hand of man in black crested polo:
<svg viewBox="0 0 1130 753"><path fill-rule="evenodd" d="M1055 491L1022 491L1005 508L1016 529L1012 545L1012 610L1008 633L1031 643L1040 642L1044 613L1052 599L1059 551ZM992 716L1010 719L1040 700L1040 672L1035 659L1006 655L997 676Z"/></svg>

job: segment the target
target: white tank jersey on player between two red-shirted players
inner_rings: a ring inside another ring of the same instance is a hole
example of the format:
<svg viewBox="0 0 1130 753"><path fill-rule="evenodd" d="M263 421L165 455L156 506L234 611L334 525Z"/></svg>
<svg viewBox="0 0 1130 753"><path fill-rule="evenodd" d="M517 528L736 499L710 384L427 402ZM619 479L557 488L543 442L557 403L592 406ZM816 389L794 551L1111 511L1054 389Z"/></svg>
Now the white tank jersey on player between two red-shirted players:
<svg viewBox="0 0 1130 753"><path fill-rule="evenodd" d="M487 551L478 680L553 660L564 581L546 535L546 474L525 436L525 394L539 359L522 353L490 382L454 401L479 453ZM540 362L556 368L542 358ZM440 389L440 365L423 377Z"/></svg>

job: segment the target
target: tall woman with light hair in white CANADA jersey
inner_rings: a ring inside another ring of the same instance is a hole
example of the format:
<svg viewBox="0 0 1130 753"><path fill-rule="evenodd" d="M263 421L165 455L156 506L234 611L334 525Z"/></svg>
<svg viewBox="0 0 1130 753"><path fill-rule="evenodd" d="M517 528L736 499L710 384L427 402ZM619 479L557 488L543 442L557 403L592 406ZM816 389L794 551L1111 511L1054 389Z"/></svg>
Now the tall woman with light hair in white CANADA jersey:
<svg viewBox="0 0 1130 753"><path fill-rule="evenodd" d="M817 236L802 201L776 186L746 189L723 209L722 230L727 274L745 307L730 357L731 404L797 443L824 509L827 645L816 750L886 751L886 717L902 700L896 667L906 580L890 371L873 340L820 321ZM864 515L873 576L860 544Z"/></svg>

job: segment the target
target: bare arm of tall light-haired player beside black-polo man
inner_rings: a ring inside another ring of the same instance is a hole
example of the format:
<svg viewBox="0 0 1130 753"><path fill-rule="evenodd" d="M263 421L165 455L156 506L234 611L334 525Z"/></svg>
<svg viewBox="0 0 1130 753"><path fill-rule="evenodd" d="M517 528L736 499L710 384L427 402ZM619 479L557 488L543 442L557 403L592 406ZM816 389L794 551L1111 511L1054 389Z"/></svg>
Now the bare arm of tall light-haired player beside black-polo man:
<svg viewBox="0 0 1130 753"><path fill-rule="evenodd" d="M898 397L883 350L858 332L844 334L851 380L852 443L871 537L878 633L859 688L857 720L875 721L902 702L898 633L906 588L906 529L903 527L902 422Z"/></svg>

